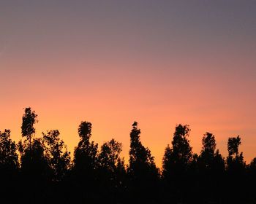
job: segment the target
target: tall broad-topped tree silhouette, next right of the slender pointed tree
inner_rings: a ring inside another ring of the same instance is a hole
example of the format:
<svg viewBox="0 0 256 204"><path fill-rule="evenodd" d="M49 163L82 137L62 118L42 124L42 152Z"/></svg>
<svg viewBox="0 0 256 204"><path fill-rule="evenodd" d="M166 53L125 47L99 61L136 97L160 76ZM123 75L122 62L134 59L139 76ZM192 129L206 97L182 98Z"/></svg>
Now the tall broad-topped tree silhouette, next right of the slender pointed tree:
<svg viewBox="0 0 256 204"><path fill-rule="evenodd" d="M189 125L177 125L173 134L172 148L168 145L162 162L162 176L176 200L186 199L189 192L189 165L192 147L189 144Z"/></svg>

